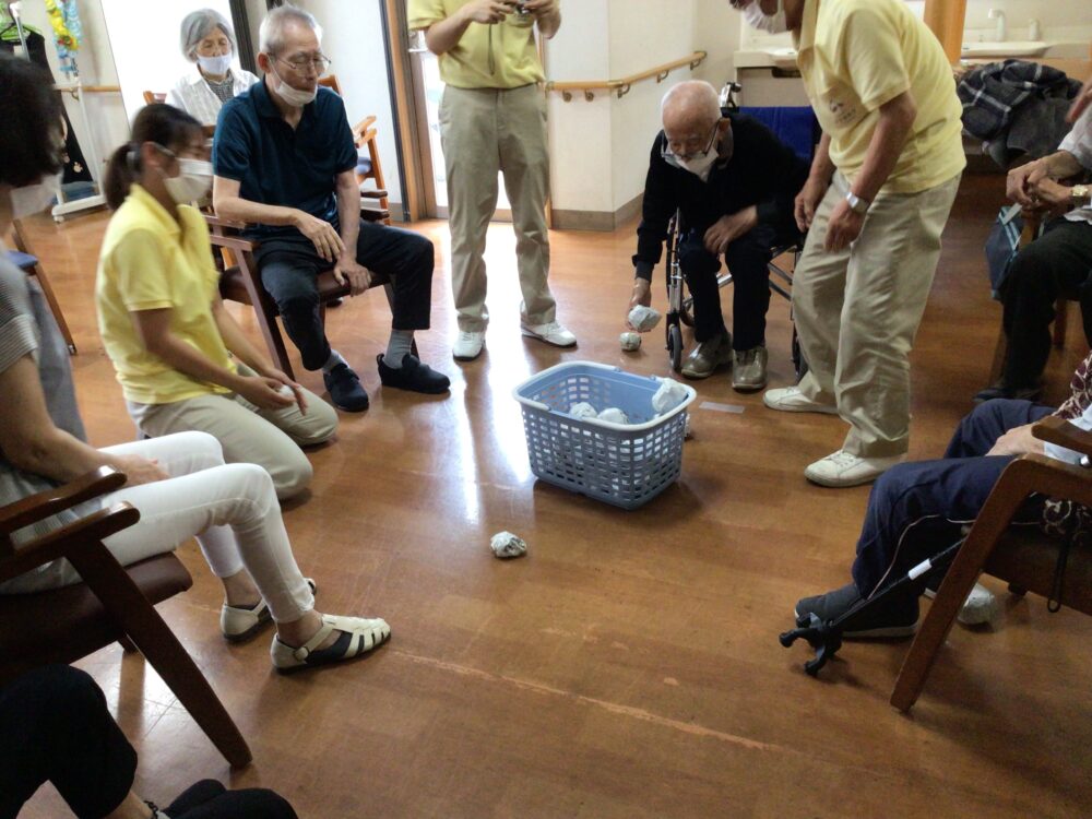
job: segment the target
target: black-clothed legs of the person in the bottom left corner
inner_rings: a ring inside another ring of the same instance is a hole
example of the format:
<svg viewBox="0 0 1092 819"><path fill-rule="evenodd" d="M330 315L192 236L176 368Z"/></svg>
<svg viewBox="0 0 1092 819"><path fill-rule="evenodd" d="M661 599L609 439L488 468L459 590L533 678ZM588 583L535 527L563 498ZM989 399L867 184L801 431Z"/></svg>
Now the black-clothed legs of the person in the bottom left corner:
<svg viewBox="0 0 1092 819"><path fill-rule="evenodd" d="M161 810L133 793L136 751L85 672L51 665L0 686L0 819L50 782L80 819L295 819L272 791L188 787Z"/></svg>

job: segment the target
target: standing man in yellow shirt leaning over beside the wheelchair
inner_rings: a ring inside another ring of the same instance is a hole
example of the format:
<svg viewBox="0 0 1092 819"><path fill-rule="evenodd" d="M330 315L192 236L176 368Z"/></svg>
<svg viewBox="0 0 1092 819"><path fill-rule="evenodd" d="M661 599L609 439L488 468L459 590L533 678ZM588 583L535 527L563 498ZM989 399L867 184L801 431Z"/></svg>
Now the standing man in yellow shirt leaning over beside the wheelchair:
<svg viewBox="0 0 1092 819"><path fill-rule="evenodd" d="M773 410L840 415L842 448L805 476L875 480L905 460L910 348L940 257L963 155L940 43L902 0L732 0L756 28L792 31L823 136L796 198L809 230L793 281L799 385Z"/></svg>

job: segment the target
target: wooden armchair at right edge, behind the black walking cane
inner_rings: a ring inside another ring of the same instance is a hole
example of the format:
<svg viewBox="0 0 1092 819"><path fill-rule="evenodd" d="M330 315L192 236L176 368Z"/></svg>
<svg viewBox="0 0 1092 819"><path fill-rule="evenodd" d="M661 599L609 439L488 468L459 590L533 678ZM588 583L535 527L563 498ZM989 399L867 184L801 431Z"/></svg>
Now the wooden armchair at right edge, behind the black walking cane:
<svg viewBox="0 0 1092 819"><path fill-rule="evenodd" d="M1033 427L1033 435L1092 456L1092 432L1061 418L1044 418ZM1021 594L1052 595L1063 542L1042 534L1037 527L1009 525L1033 494L1092 507L1092 472L1037 454L1018 458L1005 468L906 655L891 695L891 704L900 711L909 711L917 701L937 652L980 572L1007 581L1010 590ZM1064 583L1056 598L1065 606L1092 615L1092 548L1079 544L1070 547Z"/></svg>

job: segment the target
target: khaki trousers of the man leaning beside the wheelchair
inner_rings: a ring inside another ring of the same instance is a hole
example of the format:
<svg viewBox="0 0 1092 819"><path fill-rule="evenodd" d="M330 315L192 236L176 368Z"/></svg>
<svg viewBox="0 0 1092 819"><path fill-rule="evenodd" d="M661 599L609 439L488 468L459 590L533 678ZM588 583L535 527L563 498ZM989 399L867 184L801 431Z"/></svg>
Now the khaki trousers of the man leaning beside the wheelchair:
<svg viewBox="0 0 1092 819"><path fill-rule="evenodd" d="M848 189L841 174L823 197L793 277L793 313L809 399L838 406L842 449L862 458L910 446L910 348L940 258L940 234L959 177L919 193L880 193L860 236L823 250L831 211Z"/></svg>

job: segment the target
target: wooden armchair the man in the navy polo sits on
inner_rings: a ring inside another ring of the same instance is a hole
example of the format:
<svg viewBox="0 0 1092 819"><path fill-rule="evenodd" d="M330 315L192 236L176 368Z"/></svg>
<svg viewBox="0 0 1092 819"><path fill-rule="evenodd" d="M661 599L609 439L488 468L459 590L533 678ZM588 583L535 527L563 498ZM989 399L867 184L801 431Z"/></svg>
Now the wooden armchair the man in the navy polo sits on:
<svg viewBox="0 0 1092 819"><path fill-rule="evenodd" d="M378 211L361 210L365 218L372 218ZM254 251L258 242L251 241L240 236L240 232L246 225L238 222L229 222L211 214L205 214L205 222L209 223L210 238L213 247L221 250L229 250L234 264L225 264L219 280L221 297L228 301L238 301L250 305L254 308L254 316L258 318L258 327L265 340L273 364L286 373L289 378L295 378L292 361L288 358L288 351L285 348L284 337L276 323L278 313L276 301L270 296L262 285L261 275L258 272L258 264L254 261ZM325 318L325 307L334 299L341 299L349 295L348 284L337 284L333 270L319 273L319 309ZM372 287L382 285L387 292L387 300L394 306L394 288L390 281L383 278L378 273L372 274ZM414 343L414 355L417 354L416 342Z"/></svg>

